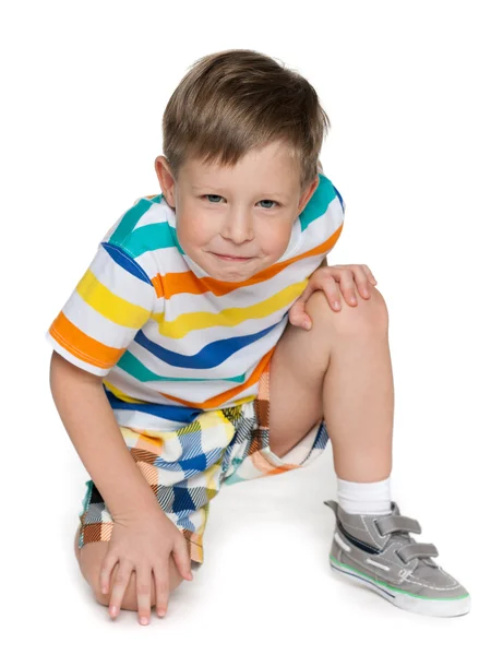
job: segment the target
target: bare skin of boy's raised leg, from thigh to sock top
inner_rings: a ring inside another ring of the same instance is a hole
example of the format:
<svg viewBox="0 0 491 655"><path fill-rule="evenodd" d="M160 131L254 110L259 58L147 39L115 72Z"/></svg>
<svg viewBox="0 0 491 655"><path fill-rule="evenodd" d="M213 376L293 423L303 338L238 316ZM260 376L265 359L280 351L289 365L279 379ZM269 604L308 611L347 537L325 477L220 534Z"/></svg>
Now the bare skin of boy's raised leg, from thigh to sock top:
<svg viewBox="0 0 491 655"><path fill-rule="evenodd" d="M310 331L288 325L270 368L270 448L282 457L324 418L338 478L372 483L392 468L394 383L382 295L331 309L307 301Z"/></svg>

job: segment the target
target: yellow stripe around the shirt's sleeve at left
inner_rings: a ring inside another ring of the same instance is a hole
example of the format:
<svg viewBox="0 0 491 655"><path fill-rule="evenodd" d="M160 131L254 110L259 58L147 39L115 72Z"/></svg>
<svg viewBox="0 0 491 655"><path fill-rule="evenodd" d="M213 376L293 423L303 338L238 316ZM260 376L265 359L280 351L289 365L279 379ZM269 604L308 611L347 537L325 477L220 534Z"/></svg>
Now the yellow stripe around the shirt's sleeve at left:
<svg viewBox="0 0 491 655"><path fill-rule="evenodd" d="M118 325L141 327L148 319L148 310L110 291L92 271L85 273L76 290L87 305Z"/></svg>

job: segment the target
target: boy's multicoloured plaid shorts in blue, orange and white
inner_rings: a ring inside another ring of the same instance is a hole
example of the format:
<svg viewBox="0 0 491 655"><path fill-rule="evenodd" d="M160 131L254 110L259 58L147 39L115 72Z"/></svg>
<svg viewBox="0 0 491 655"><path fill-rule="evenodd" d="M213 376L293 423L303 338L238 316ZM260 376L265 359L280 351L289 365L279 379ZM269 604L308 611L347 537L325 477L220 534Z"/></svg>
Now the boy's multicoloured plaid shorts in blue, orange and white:
<svg viewBox="0 0 491 655"><path fill-rule="evenodd" d="M278 475L306 466L325 449L324 422L316 425L283 458L270 449L270 368L260 378L258 397L236 407L206 410L170 432L121 428L134 462L158 503L187 539L191 560L203 562L203 534L209 501L221 485ZM93 480L86 483L80 513L79 548L109 541L112 517Z"/></svg>

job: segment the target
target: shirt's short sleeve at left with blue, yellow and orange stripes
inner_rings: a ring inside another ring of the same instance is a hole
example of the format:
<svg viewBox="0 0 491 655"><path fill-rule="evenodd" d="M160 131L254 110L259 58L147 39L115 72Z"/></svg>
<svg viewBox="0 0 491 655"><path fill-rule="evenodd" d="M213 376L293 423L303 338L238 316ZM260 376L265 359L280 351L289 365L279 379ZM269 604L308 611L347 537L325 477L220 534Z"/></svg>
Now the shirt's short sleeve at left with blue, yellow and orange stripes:
<svg viewBox="0 0 491 655"><path fill-rule="evenodd" d="M134 258L103 242L47 340L71 364L104 377L148 321L155 301L152 279Z"/></svg>

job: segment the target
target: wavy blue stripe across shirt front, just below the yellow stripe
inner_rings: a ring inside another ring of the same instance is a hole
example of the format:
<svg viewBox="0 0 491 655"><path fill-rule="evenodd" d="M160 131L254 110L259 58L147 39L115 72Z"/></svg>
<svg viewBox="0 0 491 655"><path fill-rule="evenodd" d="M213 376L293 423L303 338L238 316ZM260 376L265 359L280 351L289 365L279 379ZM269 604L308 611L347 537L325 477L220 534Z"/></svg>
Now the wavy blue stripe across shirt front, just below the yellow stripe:
<svg viewBox="0 0 491 655"><path fill-rule="evenodd" d="M256 332L255 334L216 341L202 348L195 355L180 355L179 353L173 353L173 350L168 350L167 348L158 346L147 338L141 330L134 337L134 341L152 353L152 355L155 355L166 364L170 364L170 366L190 369L206 369L219 366L241 348L244 348L265 336L268 332L274 330L276 325L279 325L282 321L271 325L271 327L261 330L261 332Z"/></svg>

